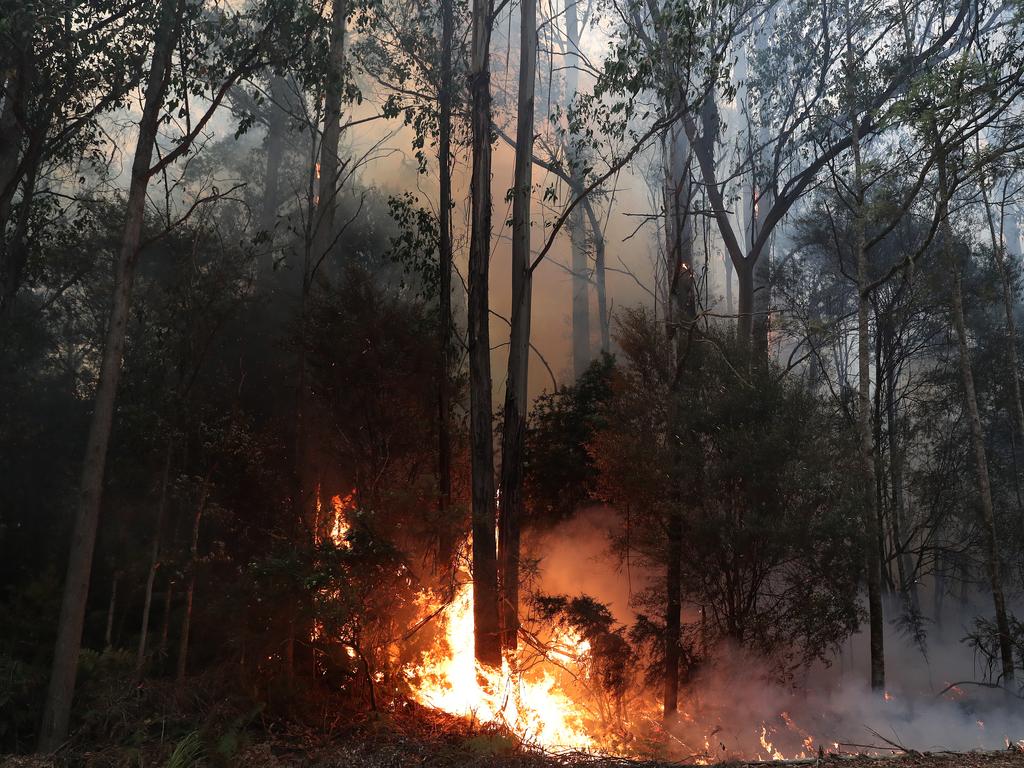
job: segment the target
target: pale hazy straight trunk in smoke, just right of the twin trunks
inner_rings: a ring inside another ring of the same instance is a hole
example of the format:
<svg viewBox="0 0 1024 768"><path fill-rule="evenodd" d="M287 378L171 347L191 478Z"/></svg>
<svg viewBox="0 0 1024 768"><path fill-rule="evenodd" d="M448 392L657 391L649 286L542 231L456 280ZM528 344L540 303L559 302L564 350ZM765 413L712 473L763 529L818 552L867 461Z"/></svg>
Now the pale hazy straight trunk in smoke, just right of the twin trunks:
<svg viewBox="0 0 1024 768"><path fill-rule="evenodd" d="M580 83L580 9L575 0L565 2L565 99L571 102ZM569 194L580 197L584 188L581 174L582 158L575 157L569 140L566 140L566 156L569 159ZM569 243L571 247L572 271L572 376L583 376L593 359L590 348L590 265L587 263L587 229L583 211L577 206L568 218Z"/></svg>

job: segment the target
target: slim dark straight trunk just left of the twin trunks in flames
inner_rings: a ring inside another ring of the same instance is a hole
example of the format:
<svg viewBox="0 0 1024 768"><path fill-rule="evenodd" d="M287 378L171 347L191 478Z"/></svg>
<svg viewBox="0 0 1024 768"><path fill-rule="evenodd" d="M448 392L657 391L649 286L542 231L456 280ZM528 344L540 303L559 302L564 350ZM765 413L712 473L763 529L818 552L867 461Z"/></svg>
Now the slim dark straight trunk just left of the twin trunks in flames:
<svg viewBox="0 0 1024 768"><path fill-rule="evenodd" d="M441 9L441 83L437 94L437 161L439 176L440 227L440 371L437 374L437 506L443 532L438 547L438 561L444 566L455 555L455 538L447 515L452 508L452 46L455 36L454 0L440 0Z"/></svg>

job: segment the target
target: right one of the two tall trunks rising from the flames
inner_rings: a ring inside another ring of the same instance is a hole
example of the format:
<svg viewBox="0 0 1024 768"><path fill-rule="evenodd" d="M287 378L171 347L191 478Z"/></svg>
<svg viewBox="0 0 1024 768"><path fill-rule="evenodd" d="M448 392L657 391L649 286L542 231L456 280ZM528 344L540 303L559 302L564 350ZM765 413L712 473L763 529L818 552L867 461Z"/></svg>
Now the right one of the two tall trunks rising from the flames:
<svg viewBox="0 0 1024 768"><path fill-rule="evenodd" d="M512 190L512 317L505 383L501 529L498 542L502 647L513 650L519 638L519 526L523 507L522 471L532 300L529 228L534 186L534 98L537 89L537 0L522 0L519 19L519 95Z"/></svg>

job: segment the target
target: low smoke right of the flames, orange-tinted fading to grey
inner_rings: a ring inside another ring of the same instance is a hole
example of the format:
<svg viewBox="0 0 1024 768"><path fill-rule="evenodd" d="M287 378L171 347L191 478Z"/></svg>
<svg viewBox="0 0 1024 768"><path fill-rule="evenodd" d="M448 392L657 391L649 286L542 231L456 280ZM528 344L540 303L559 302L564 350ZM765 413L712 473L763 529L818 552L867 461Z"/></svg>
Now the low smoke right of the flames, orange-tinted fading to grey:
<svg viewBox="0 0 1024 768"><path fill-rule="evenodd" d="M621 525L614 511L595 507L531 531L525 551L539 561L537 589L587 594L607 603L618 622L634 621L632 597L659 577L620 563L609 544ZM999 750L1024 739L1021 700L984 685L984 670L962 640L974 617L985 612L983 598L947 608L941 631L929 623L924 651L887 622L884 695L867 685L864 633L784 681L772 677L774 665L745 649L718 648L682 691L679 723L671 729L677 757L795 758L815 755L819 746L879 754L897 746ZM895 614L894 608L890 620ZM655 691L642 700L657 711Z"/></svg>

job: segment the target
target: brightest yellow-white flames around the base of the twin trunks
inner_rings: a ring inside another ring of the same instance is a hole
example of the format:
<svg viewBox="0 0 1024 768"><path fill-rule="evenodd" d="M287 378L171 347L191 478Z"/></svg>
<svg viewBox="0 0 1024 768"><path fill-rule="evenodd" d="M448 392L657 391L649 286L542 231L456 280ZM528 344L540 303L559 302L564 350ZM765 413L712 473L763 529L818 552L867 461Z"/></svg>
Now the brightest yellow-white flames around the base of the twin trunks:
<svg viewBox="0 0 1024 768"><path fill-rule="evenodd" d="M417 701L481 723L507 726L524 742L547 750L594 750L585 727L586 711L562 689L550 671L526 676L518 655L502 669L482 667L473 651L473 585L459 587L440 615L442 633L420 664L407 670ZM585 640L563 632L553 643L560 665L579 667L590 650Z"/></svg>

